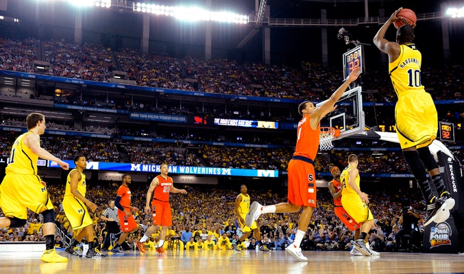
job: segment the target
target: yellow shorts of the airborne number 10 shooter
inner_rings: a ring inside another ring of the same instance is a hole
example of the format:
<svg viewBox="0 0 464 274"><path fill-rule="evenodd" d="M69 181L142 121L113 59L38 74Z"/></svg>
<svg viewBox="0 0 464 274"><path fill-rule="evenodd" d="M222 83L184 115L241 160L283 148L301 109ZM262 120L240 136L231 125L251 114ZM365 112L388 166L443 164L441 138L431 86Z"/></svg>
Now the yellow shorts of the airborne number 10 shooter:
<svg viewBox="0 0 464 274"><path fill-rule="evenodd" d="M426 147L437 138L437 109L425 90L400 95L395 107L395 121L402 149Z"/></svg>

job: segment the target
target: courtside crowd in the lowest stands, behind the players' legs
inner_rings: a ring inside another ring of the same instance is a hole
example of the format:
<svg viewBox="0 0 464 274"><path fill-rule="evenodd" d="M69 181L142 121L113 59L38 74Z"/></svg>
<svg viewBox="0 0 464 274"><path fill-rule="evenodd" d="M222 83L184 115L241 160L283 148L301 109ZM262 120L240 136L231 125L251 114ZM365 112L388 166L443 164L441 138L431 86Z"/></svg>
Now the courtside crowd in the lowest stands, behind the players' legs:
<svg viewBox="0 0 464 274"><path fill-rule="evenodd" d="M143 208L145 205L145 193L148 184L133 183L132 206ZM90 213L95 224L95 241L102 242L106 236L105 222L99 218L103 211L108 207L110 200L116 197L118 186L88 185L86 198L97 204L98 209L95 213ZM234 214L234 203L238 191L228 188L211 186L182 186L186 188L187 195L171 195L170 202L173 215L173 225L167 232L167 242L169 249L180 249L188 246L188 240L193 237L194 242L212 238L217 242L223 233L230 242L236 241L243 234L239 227L237 217ZM51 199L57 213L56 225L69 238L73 236L73 230L69 221L62 210L62 195L64 194L64 184L48 186ZM263 205L275 204L286 201L285 191L280 190L257 190L249 186L249 195L253 200L260 201ZM369 241L375 242L374 246L378 251L395 251L400 249L396 245L395 233L402 228L400 216L402 209L406 206L417 208L421 216L422 205L419 202L417 192L408 193L390 190L369 192L371 197L369 208L374 215L376 225L369 233ZM313 213L313 218L306 231L306 236L302 242L304 250L349 250L352 232L335 216L333 211L333 201L327 188L317 190L317 208ZM135 242L140 239L149 223L151 214L145 215L143 212L135 212L134 217L139 224L138 231L127 238L126 249L136 249ZM0 211L1 216L1 211ZM297 214L265 214L258 219L258 226L262 234L262 241L271 250L282 250L290 245L295 237L297 229ZM18 229L0 230L0 240L7 241L37 241L42 239L41 231L42 217L29 211L27 225ZM419 221L417 232L422 232L422 220ZM157 245L159 231L151 236L146 245ZM65 238L66 238L65 237ZM183 241L182 243L179 239ZM201 240L200 240L201 239ZM42 239L43 240L43 239ZM172 245L172 240L178 243L178 247ZM62 245L57 240L57 245ZM152 242L152 243L150 243ZM242 245L242 248L254 249L256 240L252 237ZM197 244L195 244L197 245ZM217 249L231 249L230 245Z"/></svg>

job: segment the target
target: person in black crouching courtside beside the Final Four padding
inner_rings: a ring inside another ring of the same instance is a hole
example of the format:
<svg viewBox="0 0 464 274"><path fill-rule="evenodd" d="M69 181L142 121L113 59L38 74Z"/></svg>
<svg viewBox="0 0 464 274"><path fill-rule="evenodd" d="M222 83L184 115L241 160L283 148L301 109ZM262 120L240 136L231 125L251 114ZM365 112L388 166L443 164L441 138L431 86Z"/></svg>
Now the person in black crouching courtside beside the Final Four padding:
<svg viewBox="0 0 464 274"><path fill-rule="evenodd" d="M411 244L420 247L421 234L417 227L417 222L421 217L415 213L411 206L405 207L402 210L402 215L398 224L402 225L400 231L395 234L396 245L398 249L408 249L407 243L404 241L404 235L409 235Z"/></svg>

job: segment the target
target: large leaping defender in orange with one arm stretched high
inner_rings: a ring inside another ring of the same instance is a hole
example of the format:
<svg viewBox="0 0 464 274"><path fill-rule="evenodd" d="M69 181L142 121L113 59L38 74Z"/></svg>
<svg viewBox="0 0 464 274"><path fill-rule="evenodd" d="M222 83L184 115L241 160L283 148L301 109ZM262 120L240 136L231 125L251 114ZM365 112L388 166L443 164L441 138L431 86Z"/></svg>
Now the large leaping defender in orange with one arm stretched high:
<svg viewBox="0 0 464 274"><path fill-rule="evenodd" d="M295 259L302 262L308 261L308 258L302 254L300 248L306 229L308 228L313 211L316 208L316 175L313 161L319 149L319 129L321 119L329 112L334 111L343 92L356 79L361 72L361 68L352 71L346 81L332 94L332 96L323 101L319 107L310 102L304 101L298 106L298 112L303 116L297 128L297 146L293 158L289 162L289 190L288 203L279 203L272 206L261 206L254 201L249 209L245 219L245 224L251 227L253 221L258 219L262 213L286 213L298 212L303 208L298 222L298 231L292 245L285 249Z"/></svg>

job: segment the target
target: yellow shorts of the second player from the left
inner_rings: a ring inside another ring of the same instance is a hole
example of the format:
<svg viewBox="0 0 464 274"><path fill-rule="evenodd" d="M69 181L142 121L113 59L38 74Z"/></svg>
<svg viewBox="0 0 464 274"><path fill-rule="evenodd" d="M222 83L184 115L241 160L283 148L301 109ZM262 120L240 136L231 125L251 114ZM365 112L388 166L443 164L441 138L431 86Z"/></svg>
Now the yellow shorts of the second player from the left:
<svg viewBox="0 0 464 274"><path fill-rule="evenodd" d="M74 196L64 196L63 210L73 230L93 225L90 214L88 214L87 206L84 202L80 201L80 199Z"/></svg>

